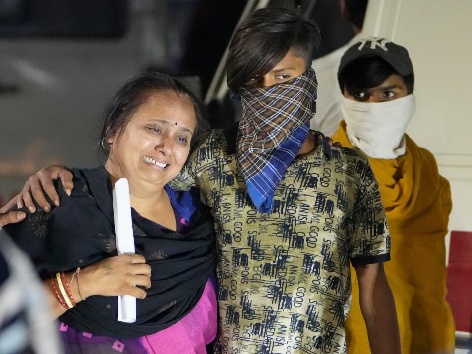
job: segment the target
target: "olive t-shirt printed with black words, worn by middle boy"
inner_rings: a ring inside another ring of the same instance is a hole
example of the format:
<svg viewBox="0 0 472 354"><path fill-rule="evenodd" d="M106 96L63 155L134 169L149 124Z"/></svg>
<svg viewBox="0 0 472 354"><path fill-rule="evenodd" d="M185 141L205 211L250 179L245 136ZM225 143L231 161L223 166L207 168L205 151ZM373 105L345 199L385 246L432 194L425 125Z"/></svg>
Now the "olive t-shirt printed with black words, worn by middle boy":
<svg viewBox="0 0 472 354"><path fill-rule="evenodd" d="M295 158L273 212L261 214L236 165L234 131L211 131L171 182L174 189L198 185L215 219L214 353L345 353L349 260L357 266L390 258L367 158L330 147L316 133L318 148Z"/></svg>

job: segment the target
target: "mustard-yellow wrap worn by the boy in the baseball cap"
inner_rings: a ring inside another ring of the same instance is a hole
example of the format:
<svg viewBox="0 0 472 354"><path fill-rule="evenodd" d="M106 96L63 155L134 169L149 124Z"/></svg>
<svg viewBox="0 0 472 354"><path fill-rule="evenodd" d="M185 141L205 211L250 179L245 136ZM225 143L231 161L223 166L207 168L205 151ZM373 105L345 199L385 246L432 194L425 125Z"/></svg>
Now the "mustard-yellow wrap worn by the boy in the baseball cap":
<svg viewBox="0 0 472 354"><path fill-rule="evenodd" d="M333 136L353 147L342 121ZM455 325L446 301L444 237L452 208L449 182L428 150L406 136L396 159L368 158L379 183L392 242L385 274L395 297L403 354L454 353ZM353 295L358 294L355 272ZM349 354L369 354L367 330L357 302L346 322Z"/></svg>

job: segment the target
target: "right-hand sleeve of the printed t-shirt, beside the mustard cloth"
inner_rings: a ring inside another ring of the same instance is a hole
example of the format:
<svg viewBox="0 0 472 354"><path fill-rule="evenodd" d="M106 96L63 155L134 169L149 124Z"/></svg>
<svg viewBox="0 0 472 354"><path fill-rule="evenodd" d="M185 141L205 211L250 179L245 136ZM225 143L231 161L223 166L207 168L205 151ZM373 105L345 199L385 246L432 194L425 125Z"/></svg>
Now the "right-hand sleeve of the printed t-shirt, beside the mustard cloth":
<svg viewBox="0 0 472 354"><path fill-rule="evenodd" d="M379 185L368 160L356 162L359 185L355 196L353 239L349 258L353 266L381 263L390 259L390 231Z"/></svg>

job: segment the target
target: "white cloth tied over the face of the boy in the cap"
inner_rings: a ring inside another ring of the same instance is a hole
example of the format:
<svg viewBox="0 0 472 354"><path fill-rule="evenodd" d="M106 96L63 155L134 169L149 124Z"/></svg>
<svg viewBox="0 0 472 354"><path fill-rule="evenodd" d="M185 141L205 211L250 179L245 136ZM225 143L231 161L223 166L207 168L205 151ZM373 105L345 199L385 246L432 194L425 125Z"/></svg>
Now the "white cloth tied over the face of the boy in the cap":
<svg viewBox="0 0 472 354"><path fill-rule="evenodd" d="M405 154L405 131L415 110L413 94L386 102L357 102L341 95L349 141L372 158L396 159Z"/></svg>

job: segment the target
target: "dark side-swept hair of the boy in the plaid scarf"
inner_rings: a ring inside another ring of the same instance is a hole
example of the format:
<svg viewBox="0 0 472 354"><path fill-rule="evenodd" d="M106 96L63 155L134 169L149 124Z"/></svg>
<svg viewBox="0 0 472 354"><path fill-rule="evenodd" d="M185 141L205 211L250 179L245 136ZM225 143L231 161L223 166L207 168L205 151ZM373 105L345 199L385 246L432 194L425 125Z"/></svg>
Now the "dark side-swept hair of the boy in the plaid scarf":
<svg viewBox="0 0 472 354"><path fill-rule="evenodd" d="M235 30L226 60L227 84L235 91L245 82L268 73L290 49L311 66L320 43L314 22L284 8L254 11Z"/></svg>

